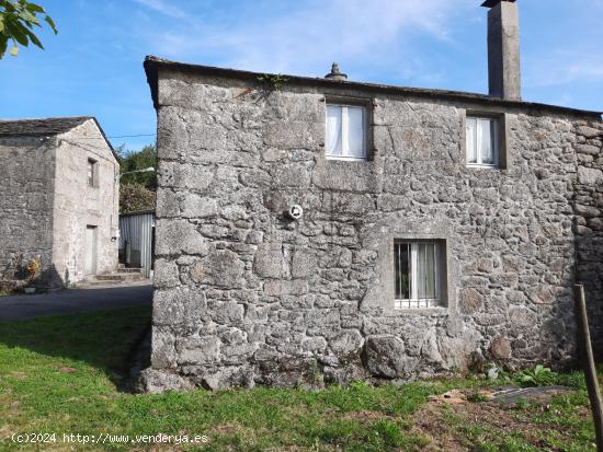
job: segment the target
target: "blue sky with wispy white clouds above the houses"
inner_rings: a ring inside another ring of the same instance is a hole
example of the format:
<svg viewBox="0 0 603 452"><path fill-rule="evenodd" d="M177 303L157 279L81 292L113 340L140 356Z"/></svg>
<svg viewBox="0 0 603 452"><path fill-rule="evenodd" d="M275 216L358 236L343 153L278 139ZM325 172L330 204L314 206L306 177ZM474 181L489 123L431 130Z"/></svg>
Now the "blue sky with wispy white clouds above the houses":
<svg viewBox="0 0 603 452"><path fill-rule="evenodd" d="M260 72L487 92L480 0L38 0L59 35L0 60L0 118L94 115L152 142L146 55ZM603 0L519 0L523 97L603 109Z"/></svg>

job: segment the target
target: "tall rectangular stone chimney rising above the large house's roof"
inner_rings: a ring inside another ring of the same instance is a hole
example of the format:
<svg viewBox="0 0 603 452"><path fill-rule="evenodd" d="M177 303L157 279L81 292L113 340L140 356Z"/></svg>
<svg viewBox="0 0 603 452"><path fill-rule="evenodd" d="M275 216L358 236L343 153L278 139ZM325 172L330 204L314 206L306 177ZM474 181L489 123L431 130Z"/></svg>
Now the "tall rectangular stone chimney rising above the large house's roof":
<svg viewBox="0 0 603 452"><path fill-rule="evenodd" d="M487 0L490 95L521 101L520 13L515 0Z"/></svg>

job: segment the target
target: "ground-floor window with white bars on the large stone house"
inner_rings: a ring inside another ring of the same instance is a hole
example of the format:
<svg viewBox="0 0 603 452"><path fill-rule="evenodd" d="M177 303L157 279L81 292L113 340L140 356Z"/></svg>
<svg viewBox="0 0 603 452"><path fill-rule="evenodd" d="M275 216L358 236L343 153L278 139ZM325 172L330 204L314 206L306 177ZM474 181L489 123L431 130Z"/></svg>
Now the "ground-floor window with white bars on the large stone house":
<svg viewBox="0 0 603 452"><path fill-rule="evenodd" d="M441 305L439 241L396 242L395 308L433 308Z"/></svg>

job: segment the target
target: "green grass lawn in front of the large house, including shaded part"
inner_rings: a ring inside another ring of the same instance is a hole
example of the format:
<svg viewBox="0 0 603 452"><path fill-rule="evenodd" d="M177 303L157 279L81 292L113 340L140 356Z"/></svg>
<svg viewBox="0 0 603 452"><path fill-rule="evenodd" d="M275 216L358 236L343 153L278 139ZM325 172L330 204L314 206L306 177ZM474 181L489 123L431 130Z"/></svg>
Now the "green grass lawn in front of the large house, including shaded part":
<svg viewBox="0 0 603 452"><path fill-rule="evenodd" d="M0 450L594 451L579 374L554 375L571 393L510 407L479 396L492 383L475 376L320 392L128 394L120 390L127 356L149 315L130 308L0 323ZM471 402L430 398L451 389ZM48 442L19 444L13 433L46 433L34 438ZM90 442L65 442L64 433ZM136 438L158 433L174 436L172 444ZM173 444L195 434L196 444Z"/></svg>

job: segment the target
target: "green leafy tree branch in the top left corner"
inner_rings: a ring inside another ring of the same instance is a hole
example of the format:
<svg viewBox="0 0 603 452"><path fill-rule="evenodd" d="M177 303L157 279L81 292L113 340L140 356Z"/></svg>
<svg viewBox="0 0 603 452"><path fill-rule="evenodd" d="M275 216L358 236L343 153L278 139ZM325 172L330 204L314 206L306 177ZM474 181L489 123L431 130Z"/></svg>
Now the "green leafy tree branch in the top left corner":
<svg viewBox="0 0 603 452"><path fill-rule="evenodd" d="M18 44L27 47L31 42L44 49L42 42L33 32L34 27L42 27L39 21L42 16L56 35L58 32L53 19L39 4L27 0L0 0L0 59L7 53L9 40L12 40L9 53L13 57L19 54Z"/></svg>

